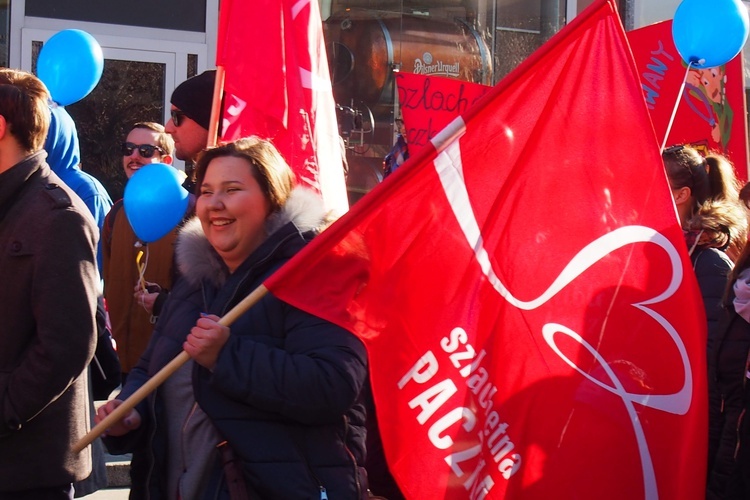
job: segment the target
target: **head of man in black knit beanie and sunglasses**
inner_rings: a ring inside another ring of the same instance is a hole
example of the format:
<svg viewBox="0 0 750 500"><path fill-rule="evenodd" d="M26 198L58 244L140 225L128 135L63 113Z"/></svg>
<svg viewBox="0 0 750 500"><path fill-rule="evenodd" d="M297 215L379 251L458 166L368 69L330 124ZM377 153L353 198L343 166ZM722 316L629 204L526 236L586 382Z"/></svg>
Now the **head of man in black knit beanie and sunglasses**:
<svg viewBox="0 0 750 500"><path fill-rule="evenodd" d="M172 92L171 118L165 129L175 144L175 156L186 162L185 172L192 180L193 163L208 142L208 124L214 95L216 70L188 78ZM221 131L220 131L221 132ZM194 184L183 184L187 189Z"/></svg>

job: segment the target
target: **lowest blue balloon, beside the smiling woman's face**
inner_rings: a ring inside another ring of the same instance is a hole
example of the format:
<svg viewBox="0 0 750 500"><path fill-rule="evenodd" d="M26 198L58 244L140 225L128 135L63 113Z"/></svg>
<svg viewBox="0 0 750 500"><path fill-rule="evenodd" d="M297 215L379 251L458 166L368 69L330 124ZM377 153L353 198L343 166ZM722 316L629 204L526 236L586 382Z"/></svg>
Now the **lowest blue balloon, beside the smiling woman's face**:
<svg viewBox="0 0 750 500"><path fill-rule="evenodd" d="M151 243L180 223L189 196L181 183L179 172L164 163L144 165L128 180L122 203L138 239Z"/></svg>

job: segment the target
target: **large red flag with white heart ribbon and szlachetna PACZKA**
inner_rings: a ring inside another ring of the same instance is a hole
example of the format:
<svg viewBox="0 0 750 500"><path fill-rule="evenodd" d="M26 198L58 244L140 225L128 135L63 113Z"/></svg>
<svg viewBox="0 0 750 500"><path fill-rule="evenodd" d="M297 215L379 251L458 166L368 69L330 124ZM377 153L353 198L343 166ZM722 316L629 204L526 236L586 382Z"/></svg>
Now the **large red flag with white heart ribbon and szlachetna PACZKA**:
<svg viewBox="0 0 750 500"><path fill-rule="evenodd" d="M266 282L365 340L409 498L703 498L706 320L599 1Z"/></svg>

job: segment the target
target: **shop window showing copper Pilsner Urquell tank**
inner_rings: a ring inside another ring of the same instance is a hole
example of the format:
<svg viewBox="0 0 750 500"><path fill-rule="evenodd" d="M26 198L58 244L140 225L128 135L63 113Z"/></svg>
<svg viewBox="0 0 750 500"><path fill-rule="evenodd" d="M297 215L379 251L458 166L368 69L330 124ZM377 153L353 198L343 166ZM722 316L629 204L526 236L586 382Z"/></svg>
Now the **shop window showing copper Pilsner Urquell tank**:
<svg viewBox="0 0 750 500"><path fill-rule="evenodd" d="M398 72L495 85L562 28L566 2L323 0L321 12L356 201L394 143Z"/></svg>

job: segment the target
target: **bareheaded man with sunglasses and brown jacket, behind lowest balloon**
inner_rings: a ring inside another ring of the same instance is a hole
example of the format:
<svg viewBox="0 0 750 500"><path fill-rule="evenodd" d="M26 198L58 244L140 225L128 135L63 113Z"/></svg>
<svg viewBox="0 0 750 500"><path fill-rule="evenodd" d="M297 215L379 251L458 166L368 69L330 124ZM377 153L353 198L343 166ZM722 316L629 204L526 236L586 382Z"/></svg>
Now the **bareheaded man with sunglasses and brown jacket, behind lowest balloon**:
<svg viewBox="0 0 750 500"><path fill-rule="evenodd" d="M120 148L122 167L128 179L149 163L172 164L174 142L158 123L136 123ZM112 336L117 342L124 382L146 349L155 317L166 300L166 290L171 288L173 244L177 229L149 243L146 249L138 243L121 208L122 200L113 205L104 222L102 253L104 297L107 299ZM140 263L143 265L143 279L148 286L146 290L139 285L141 269L138 253L141 251Z"/></svg>

